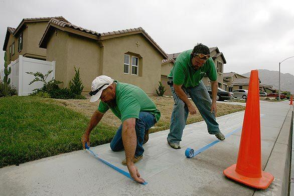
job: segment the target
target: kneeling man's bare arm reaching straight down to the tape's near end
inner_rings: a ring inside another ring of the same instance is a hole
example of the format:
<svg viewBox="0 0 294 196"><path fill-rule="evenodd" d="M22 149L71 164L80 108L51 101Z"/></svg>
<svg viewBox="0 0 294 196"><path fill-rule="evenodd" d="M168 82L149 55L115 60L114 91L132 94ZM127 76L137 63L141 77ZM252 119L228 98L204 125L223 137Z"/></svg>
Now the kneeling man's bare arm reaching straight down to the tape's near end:
<svg viewBox="0 0 294 196"><path fill-rule="evenodd" d="M128 118L122 123L122 142L125 151L126 166L130 176L139 183L143 183L144 179L140 178L138 169L134 166L133 158L135 155L137 136L135 131L135 118Z"/></svg>

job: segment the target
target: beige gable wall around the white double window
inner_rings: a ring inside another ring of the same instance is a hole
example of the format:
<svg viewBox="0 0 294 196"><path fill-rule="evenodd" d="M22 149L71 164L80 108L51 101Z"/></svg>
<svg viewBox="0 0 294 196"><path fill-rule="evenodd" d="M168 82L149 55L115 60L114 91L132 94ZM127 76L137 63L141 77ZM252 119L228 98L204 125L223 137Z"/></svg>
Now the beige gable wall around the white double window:
<svg viewBox="0 0 294 196"><path fill-rule="evenodd" d="M136 45L137 42L140 44L139 47ZM103 40L102 43L104 46L104 75L121 82L134 84L145 93L156 94L155 88L161 80L161 61L165 57L143 35L122 36ZM139 54L142 57L141 61L139 60L141 76L123 73L124 54L127 52Z"/></svg>

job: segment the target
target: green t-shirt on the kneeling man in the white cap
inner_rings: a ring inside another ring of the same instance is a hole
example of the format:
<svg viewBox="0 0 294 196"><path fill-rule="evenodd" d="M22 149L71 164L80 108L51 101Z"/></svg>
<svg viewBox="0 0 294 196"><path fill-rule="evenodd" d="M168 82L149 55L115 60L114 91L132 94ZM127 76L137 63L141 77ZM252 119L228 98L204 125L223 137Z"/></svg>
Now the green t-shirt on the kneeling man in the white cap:
<svg viewBox="0 0 294 196"><path fill-rule="evenodd" d="M139 112L150 112L155 115L156 121L160 119L160 111L146 93L137 86L116 82L116 106L110 108L108 104L100 101L98 111L105 113L109 108L121 122L128 118L139 118Z"/></svg>

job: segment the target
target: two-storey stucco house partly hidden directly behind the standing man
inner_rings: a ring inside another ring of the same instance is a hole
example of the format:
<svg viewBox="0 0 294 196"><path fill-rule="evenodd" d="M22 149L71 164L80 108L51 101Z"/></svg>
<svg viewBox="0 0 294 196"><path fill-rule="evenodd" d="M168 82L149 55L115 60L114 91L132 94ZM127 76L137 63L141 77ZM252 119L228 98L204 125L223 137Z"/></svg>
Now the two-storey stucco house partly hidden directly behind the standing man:
<svg viewBox="0 0 294 196"><path fill-rule="evenodd" d="M226 64L226 59L222 52L219 51L218 47L209 48L210 56L212 57L214 64L216 66L217 70L217 80L218 80L218 87L226 90L227 89L227 79L223 78L223 66ZM165 95L172 95L169 86L166 84L166 81L168 81L167 75L169 75L172 67L174 66L175 60L181 53L173 53L168 54L169 58L162 61L162 77L161 81L168 89L165 93ZM210 80L205 75L202 79L204 85L210 86Z"/></svg>

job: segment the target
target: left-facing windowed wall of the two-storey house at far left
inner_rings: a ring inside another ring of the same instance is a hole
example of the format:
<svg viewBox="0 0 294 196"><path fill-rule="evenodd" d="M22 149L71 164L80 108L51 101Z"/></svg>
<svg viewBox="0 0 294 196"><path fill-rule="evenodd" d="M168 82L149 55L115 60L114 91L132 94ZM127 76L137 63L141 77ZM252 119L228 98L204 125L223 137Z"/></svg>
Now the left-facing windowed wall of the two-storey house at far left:
<svg viewBox="0 0 294 196"><path fill-rule="evenodd" d="M19 52L19 34L15 37L10 34L8 45L6 48L7 57L8 57L8 64L10 64L12 61L15 61L17 58L19 58L20 55L25 55L27 53L27 45L28 45L28 28L23 29L20 31L20 33L23 32L23 50ZM12 55L11 60L9 59L9 47L12 46L12 44L15 42L15 54Z"/></svg>

